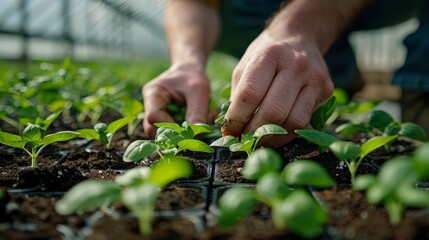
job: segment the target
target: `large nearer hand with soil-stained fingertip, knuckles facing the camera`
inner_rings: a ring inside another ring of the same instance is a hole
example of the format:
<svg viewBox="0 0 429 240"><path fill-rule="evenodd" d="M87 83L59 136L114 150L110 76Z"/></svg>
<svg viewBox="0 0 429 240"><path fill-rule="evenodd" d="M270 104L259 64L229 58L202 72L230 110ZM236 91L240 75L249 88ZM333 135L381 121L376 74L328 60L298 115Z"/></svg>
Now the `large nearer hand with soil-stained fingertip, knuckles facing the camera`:
<svg viewBox="0 0 429 240"><path fill-rule="evenodd" d="M289 134L261 143L279 147L296 137L293 130L311 127L311 115L332 91L328 68L316 44L265 31L234 69L231 106L222 133L239 137L274 123Z"/></svg>

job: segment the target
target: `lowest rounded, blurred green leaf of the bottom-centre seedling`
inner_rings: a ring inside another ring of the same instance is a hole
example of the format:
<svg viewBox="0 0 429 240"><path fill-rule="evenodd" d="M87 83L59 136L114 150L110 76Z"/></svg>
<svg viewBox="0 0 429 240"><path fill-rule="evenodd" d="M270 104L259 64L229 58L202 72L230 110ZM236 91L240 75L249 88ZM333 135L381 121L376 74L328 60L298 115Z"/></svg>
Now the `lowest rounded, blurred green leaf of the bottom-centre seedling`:
<svg viewBox="0 0 429 240"><path fill-rule="evenodd" d="M272 210L277 228L289 229L305 238L314 238L322 233L328 214L304 190L295 190Z"/></svg>

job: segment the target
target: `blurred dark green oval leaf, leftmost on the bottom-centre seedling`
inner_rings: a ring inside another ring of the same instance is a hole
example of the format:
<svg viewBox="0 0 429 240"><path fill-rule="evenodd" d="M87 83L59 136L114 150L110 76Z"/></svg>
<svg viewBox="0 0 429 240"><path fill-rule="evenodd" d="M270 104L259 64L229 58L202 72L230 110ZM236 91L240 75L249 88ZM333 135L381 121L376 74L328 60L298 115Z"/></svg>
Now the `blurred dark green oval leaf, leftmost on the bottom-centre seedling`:
<svg viewBox="0 0 429 240"><path fill-rule="evenodd" d="M225 191L219 199L218 226L231 229L249 215L256 206L254 193L250 189L234 187Z"/></svg>

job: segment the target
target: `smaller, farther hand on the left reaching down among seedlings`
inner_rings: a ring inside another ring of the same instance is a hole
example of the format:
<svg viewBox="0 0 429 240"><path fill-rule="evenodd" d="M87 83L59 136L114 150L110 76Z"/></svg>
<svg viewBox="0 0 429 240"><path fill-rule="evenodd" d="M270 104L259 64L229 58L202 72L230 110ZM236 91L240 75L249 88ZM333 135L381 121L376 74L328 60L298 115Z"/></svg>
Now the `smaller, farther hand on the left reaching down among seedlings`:
<svg viewBox="0 0 429 240"><path fill-rule="evenodd" d="M167 105L186 104L185 119L189 123L207 123L209 119L210 83L204 67L194 64L172 65L142 89L144 101L143 128L155 138L157 122L174 122Z"/></svg>

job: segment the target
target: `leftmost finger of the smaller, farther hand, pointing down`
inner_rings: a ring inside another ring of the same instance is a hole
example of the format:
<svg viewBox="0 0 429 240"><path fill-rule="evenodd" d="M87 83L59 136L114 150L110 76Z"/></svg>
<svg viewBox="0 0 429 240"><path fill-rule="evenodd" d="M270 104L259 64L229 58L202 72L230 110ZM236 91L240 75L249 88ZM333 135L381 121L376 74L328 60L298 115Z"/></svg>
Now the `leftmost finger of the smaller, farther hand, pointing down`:
<svg viewBox="0 0 429 240"><path fill-rule="evenodd" d="M157 122L174 122L167 112L167 105L172 102L171 95L161 87L148 85L143 88L144 120L143 128L146 135L155 138Z"/></svg>

